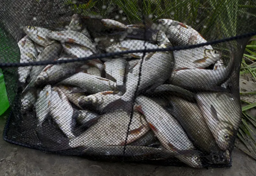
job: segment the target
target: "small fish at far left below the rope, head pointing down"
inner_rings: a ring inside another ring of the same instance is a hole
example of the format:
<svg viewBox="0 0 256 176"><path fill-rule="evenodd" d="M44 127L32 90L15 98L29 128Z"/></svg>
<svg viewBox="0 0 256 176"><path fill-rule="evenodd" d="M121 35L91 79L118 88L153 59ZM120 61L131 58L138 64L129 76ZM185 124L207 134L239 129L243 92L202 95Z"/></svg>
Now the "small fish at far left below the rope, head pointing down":
<svg viewBox="0 0 256 176"><path fill-rule="evenodd" d="M36 98L37 98L37 92L35 87L32 87L28 91L22 93L21 103L22 103L23 114L27 113L28 110L30 110L34 106L36 102Z"/></svg>

